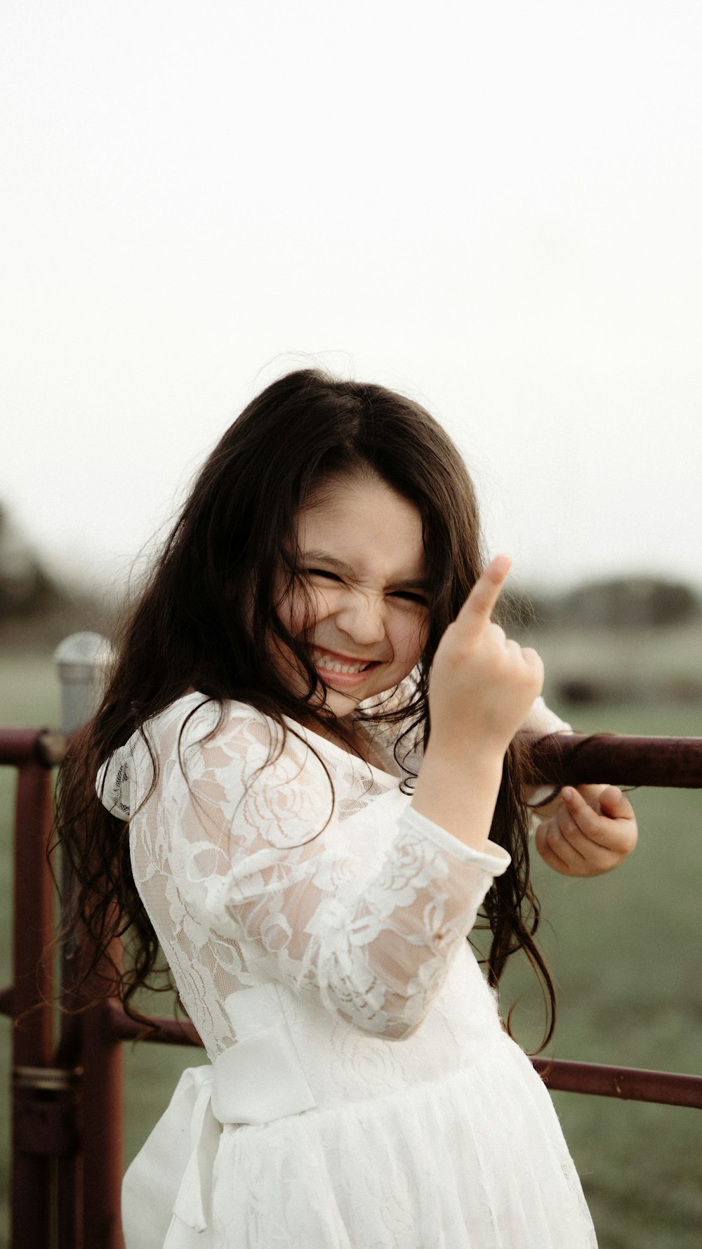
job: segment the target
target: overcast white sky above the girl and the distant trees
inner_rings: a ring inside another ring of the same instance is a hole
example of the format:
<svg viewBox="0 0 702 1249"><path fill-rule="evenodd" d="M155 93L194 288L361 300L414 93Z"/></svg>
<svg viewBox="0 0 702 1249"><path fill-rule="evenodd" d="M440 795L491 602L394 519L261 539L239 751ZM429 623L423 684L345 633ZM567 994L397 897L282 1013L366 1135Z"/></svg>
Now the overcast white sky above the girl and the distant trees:
<svg viewBox="0 0 702 1249"><path fill-rule="evenodd" d="M702 583L698 0L5 0L0 500L125 576L302 360L423 401L521 581Z"/></svg>

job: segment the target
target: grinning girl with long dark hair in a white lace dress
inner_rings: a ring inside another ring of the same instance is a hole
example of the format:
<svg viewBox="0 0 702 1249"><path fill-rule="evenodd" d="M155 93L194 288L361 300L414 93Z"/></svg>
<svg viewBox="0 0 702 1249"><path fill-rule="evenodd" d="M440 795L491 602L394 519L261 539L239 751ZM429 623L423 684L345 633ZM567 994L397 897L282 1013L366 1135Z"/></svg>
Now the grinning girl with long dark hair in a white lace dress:
<svg viewBox="0 0 702 1249"><path fill-rule="evenodd" d="M518 731L567 728L491 622L508 566L481 572L457 450L381 386L282 377L202 468L59 817L77 917L132 937L122 1000L160 943L210 1058L127 1170L127 1249L595 1245L492 988L523 948L553 1008ZM536 844L590 876L635 839L590 786Z"/></svg>

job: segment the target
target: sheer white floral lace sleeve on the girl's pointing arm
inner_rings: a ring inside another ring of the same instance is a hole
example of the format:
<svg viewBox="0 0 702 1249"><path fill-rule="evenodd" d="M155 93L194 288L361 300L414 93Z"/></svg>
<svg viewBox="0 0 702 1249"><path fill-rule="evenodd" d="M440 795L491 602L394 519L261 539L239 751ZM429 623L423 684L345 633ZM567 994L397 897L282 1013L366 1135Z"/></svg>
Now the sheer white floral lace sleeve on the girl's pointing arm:
<svg viewBox="0 0 702 1249"><path fill-rule="evenodd" d="M256 979L312 994L367 1032L407 1037L510 857L465 846L396 788L358 796L330 764L332 812L324 767L299 738L266 763L275 731L246 708L186 746L180 784L171 769L159 811L171 826L176 817L177 891L200 923L254 952ZM380 866L362 849L373 843Z"/></svg>

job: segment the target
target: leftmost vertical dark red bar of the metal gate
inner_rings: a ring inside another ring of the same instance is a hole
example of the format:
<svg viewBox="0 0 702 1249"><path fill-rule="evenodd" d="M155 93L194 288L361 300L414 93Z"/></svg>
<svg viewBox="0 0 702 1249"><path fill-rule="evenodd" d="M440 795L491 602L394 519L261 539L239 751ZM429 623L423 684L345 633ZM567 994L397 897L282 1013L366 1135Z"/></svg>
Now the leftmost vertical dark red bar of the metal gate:
<svg viewBox="0 0 702 1249"><path fill-rule="evenodd" d="M49 1067L52 1050L54 883L46 863L51 828L51 773L39 762L17 772L14 879L12 1065ZM24 1012L29 1012L24 1015ZM12 1214L15 1249L47 1249L51 1160L20 1150L20 1099L12 1087Z"/></svg>

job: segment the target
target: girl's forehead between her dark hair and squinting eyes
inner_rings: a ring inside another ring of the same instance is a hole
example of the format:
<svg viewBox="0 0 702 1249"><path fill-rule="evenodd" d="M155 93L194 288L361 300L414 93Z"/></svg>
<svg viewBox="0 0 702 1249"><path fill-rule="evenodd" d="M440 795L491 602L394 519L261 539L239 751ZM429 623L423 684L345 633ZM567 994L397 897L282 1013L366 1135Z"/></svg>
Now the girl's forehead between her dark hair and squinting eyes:
<svg viewBox="0 0 702 1249"><path fill-rule="evenodd" d="M426 576L422 518L413 503L380 481L331 482L297 516L300 552L327 552L362 578Z"/></svg>

